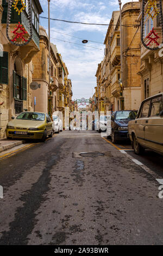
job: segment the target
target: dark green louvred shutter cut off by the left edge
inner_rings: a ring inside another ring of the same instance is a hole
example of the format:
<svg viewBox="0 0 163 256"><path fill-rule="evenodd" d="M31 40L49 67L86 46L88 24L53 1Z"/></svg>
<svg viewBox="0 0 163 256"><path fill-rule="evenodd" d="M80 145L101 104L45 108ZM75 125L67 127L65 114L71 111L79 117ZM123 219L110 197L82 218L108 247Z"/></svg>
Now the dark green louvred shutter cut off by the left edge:
<svg viewBox="0 0 163 256"><path fill-rule="evenodd" d="M0 57L0 83L9 83L9 60L8 52L3 52L3 57Z"/></svg>

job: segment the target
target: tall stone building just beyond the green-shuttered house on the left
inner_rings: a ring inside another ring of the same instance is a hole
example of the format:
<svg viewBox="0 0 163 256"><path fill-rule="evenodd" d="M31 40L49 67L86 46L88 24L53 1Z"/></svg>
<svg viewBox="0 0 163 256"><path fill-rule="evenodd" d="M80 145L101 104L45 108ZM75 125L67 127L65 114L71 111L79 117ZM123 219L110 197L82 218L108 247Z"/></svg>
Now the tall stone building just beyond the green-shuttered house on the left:
<svg viewBox="0 0 163 256"><path fill-rule="evenodd" d="M45 28L40 26L40 51L33 58L33 81L40 88L33 90L33 101L36 99L35 111L45 112L52 116L58 110L58 57L57 48L51 44L51 84L49 86L49 52L48 36Z"/></svg>

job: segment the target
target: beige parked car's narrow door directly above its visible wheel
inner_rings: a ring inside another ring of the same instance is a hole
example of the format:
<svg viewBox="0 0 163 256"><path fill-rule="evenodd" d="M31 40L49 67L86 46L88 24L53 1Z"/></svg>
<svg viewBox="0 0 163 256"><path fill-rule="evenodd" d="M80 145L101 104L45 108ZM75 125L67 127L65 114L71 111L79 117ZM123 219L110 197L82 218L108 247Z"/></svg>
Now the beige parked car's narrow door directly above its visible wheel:
<svg viewBox="0 0 163 256"><path fill-rule="evenodd" d="M151 99L142 103L137 119L135 119L135 133L139 143L145 144L145 126L148 119Z"/></svg>

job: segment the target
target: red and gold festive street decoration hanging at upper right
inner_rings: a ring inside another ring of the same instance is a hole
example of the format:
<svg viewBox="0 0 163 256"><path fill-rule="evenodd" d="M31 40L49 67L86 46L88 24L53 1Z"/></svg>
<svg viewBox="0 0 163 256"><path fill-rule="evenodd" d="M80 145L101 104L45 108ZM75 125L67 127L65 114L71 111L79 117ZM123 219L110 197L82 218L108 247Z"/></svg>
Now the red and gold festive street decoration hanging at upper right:
<svg viewBox="0 0 163 256"><path fill-rule="evenodd" d="M152 28L152 30L148 33L146 36L146 40L144 39L144 24L145 24L145 5L148 2L148 8L146 10L146 14L149 15L149 17L154 19L158 14L160 15L161 19L161 31L162 31L162 37L163 37L163 16L162 16L162 3L161 0L159 0L159 9L156 7L156 1L155 0L142 0L142 22L141 22L141 41L143 46L145 46L148 50L158 50L159 48L159 42L157 41L160 37L157 35L155 29ZM152 10L153 7L153 10ZM152 15L152 11L154 11L154 14ZM154 36L154 37L153 37ZM149 41L147 41L147 39ZM163 38L162 38L163 42ZM149 47L152 44L156 44L156 47Z"/></svg>

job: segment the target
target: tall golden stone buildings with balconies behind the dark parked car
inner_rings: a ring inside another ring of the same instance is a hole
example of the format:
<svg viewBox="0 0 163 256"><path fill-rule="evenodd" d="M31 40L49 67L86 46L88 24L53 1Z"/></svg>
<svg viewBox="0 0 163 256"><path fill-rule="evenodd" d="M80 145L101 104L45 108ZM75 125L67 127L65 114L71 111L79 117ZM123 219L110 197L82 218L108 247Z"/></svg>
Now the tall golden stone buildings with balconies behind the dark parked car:
<svg viewBox="0 0 163 256"><path fill-rule="evenodd" d="M129 2L122 7L122 25L135 22L140 13L139 2ZM133 41L132 41L133 39ZM122 67L120 51L120 11L113 11L104 40L105 57L101 62L99 94L101 111L138 109L141 101L140 28L122 26ZM120 83L122 69L122 87ZM99 73L99 66L97 69ZM97 73L96 73L97 76ZM98 94L98 93L97 93ZM104 106L104 107L103 107Z"/></svg>

